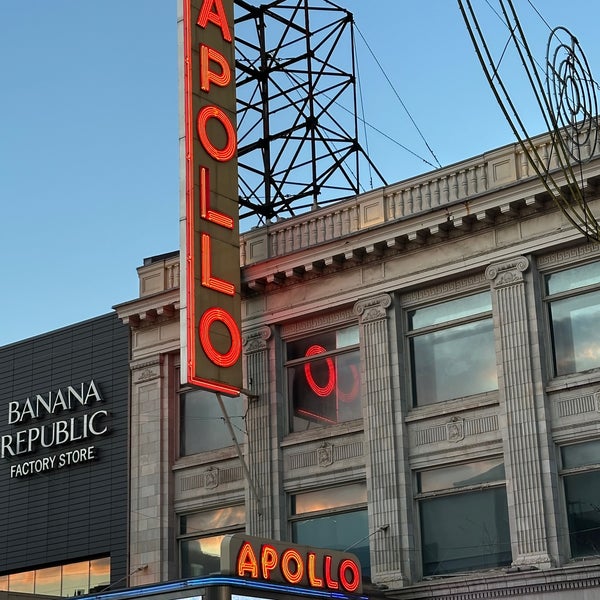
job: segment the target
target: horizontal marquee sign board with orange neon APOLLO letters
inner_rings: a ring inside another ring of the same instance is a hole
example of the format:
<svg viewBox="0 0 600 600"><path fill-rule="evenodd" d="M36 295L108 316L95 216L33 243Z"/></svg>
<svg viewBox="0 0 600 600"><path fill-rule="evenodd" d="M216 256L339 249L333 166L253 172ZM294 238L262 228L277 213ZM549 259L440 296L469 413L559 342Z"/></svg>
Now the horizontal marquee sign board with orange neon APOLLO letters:
<svg viewBox="0 0 600 600"><path fill-rule="evenodd" d="M222 553L222 570L230 569L238 577L326 591L362 591L360 563L353 554L241 536L234 534L223 542L229 545L225 560L234 564L225 565Z"/></svg>

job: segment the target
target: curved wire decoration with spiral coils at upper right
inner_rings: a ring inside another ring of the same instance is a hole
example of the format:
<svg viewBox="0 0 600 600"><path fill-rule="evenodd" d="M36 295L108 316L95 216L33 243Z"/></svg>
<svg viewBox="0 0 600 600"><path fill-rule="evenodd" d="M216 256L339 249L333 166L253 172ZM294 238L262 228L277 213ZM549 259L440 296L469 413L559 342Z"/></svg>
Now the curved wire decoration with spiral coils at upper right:
<svg viewBox="0 0 600 600"><path fill-rule="evenodd" d="M598 84L577 38L564 27L552 29L542 66L530 50L512 1L499 0L495 14L510 36L502 55L494 57L473 3L458 0L458 4L486 79L532 171L571 224L600 242L600 224L589 207L582 175L583 165L598 151ZM516 106L517 95L510 92L515 69L502 62L509 46L516 51L552 135L551 156L540 154Z"/></svg>

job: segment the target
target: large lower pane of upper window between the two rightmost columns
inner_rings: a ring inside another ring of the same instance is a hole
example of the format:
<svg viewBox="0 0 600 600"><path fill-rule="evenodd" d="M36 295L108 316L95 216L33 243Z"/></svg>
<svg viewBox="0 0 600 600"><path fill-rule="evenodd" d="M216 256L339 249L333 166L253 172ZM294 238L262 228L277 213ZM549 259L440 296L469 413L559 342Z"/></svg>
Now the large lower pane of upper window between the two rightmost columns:
<svg viewBox="0 0 600 600"><path fill-rule="evenodd" d="M498 389L492 319L415 336L410 351L416 405Z"/></svg>

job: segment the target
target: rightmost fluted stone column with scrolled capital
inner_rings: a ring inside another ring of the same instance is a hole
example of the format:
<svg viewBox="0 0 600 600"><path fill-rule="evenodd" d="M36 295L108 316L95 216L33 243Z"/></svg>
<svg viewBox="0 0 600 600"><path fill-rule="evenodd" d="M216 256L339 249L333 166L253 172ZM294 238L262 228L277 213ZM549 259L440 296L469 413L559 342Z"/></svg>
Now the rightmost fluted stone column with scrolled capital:
<svg viewBox="0 0 600 600"><path fill-rule="evenodd" d="M490 265L501 341L500 397L506 423L505 465L509 484L513 564L548 568L546 511L543 497L540 432L533 383L531 339L523 273L524 256Z"/></svg>

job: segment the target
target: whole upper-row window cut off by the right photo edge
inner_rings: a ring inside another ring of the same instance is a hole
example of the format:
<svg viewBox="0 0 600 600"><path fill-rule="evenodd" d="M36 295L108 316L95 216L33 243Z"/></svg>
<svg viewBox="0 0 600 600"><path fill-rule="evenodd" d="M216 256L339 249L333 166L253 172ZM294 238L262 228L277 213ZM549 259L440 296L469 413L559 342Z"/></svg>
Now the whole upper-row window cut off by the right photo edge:
<svg viewBox="0 0 600 600"><path fill-rule="evenodd" d="M546 276L554 374L600 367L600 262Z"/></svg>

